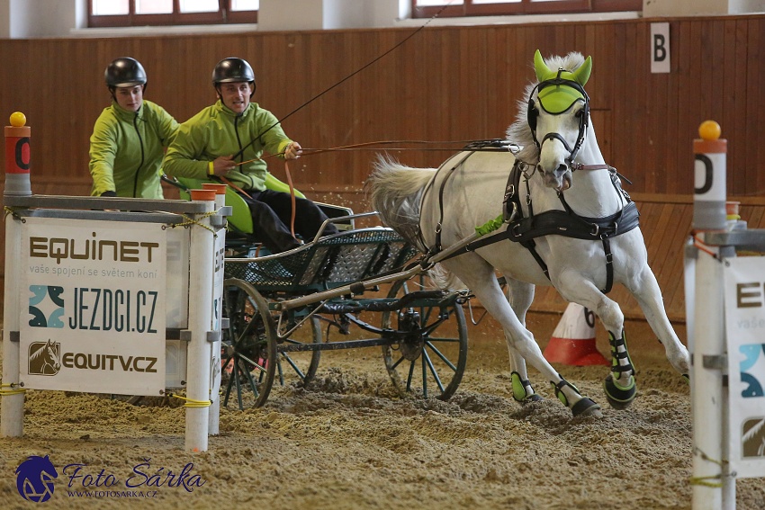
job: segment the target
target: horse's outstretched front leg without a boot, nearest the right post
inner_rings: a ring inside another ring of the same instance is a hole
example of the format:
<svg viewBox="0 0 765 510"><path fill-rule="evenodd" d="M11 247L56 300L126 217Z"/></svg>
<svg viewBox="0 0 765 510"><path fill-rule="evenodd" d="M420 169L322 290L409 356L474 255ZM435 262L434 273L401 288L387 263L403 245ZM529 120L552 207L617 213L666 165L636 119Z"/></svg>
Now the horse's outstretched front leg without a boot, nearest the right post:
<svg viewBox="0 0 765 510"><path fill-rule="evenodd" d="M646 264L643 271L637 274L635 280L627 282L625 285L627 290L635 296L635 300L640 305L640 309L643 310L645 319L651 326L654 335L664 345L667 360L676 371L688 378L690 368L688 349L680 343L680 339L672 328L670 319L667 317L667 311L664 309L662 290L659 288L659 283L656 282L656 276L651 268Z"/></svg>

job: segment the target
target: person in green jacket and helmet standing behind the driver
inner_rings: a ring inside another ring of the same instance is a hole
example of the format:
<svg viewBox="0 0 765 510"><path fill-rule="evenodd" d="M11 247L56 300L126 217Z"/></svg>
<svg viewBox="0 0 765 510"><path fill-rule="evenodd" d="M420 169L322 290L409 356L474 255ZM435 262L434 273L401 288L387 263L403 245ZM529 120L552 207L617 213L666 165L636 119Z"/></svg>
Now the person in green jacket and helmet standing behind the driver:
<svg viewBox="0 0 765 510"><path fill-rule="evenodd" d="M104 79L112 105L103 109L90 137L90 194L164 198L160 164L178 123L161 106L143 99L146 72L135 58L114 59Z"/></svg>

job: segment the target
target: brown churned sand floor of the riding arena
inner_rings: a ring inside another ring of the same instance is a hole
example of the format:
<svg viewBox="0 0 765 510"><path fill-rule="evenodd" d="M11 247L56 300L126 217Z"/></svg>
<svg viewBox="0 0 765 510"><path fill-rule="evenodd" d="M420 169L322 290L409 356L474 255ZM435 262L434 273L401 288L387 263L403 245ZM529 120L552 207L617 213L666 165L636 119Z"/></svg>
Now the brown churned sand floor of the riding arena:
<svg viewBox="0 0 765 510"><path fill-rule="evenodd" d="M558 318L529 318L543 348ZM689 387L644 322L627 335L639 393L626 411L606 403L605 367L556 365L603 406L600 419L572 418L533 369L545 401L519 407L489 318L470 327L468 367L448 402L398 398L378 348L322 353L311 389L275 387L265 407L222 409L220 435L197 454L184 452L183 407L30 390L23 438L0 440L0 507L37 507L19 496L14 470L49 455L59 476L46 508L689 509ZM598 344L608 352L602 329ZM69 496L67 464L120 483ZM184 468L203 485L160 481ZM130 476L144 482L134 493ZM765 483L738 480L737 507L765 508Z"/></svg>

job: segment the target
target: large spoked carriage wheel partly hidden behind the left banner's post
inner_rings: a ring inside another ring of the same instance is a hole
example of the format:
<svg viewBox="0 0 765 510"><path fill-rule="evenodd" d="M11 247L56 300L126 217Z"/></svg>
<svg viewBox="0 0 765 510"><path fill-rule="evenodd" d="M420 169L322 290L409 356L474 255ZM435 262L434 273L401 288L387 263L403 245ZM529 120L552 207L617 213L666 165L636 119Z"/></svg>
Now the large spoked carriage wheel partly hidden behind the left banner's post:
<svg viewBox="0 0 765 510"><path fill-rule="evenodd" d="M223 406L229 405L231 391L239 409L266 403L276 371L276 332L268 303L255 288L236 278L223 282Z"/></svg>

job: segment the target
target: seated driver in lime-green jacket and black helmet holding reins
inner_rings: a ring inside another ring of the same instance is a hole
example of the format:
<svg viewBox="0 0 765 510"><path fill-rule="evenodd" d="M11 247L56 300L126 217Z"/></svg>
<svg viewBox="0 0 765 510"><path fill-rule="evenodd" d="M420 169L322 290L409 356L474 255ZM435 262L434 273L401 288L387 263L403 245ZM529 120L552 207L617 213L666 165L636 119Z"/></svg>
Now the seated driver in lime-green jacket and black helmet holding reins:
<svg viewBox="0 0 765 510"><path fill-rule="evenodd" d="M275 115L250 99L255 74L242 58L224 58L212 71L218 101L181 124L167 148L163 169L175 177L229 183L247 202L255 236L272 252L301 246L288 227L292 216L289 192L266 189L264 150L285 159L297 159L302 149L289 139ZM295 233L316 236L327 216L312 201L295 197ZM329 224L324 235L338 229Z"/></svg>

